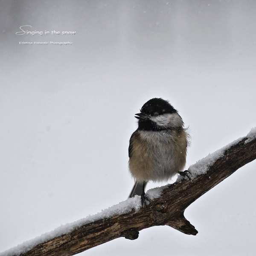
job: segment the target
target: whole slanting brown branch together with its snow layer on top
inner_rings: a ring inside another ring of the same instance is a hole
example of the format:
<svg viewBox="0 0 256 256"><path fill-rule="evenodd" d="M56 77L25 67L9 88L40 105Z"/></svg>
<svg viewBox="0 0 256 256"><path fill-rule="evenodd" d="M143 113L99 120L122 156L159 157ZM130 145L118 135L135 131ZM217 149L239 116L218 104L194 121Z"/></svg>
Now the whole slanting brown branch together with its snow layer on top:
<svg viewBox="0 0 256 256"><path fill-rule="evenodd" d="M256 128L246 137L209 154L189 167L191 179L178 177L173 184L150 189L151 203L141 208L135 196L102 212L66 224L26 241L0 256L71 256L119 237L137 239L144 228L168 225L188 235L198 231L183 213L201 195L256 159Z"/></svg>

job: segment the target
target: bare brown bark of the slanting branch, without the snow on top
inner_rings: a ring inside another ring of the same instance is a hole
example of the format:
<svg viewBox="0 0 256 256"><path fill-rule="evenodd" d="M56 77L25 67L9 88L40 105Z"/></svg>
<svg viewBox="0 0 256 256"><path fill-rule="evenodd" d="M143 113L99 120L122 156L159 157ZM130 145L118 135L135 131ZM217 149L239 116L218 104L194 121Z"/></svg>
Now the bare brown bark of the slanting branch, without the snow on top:
<svg viewBox="0 0 256 256"><path fill-rule="evenodd" d="M71 256L119 237L137 239L144 228L168 225L188 235L198 231L183 213L201 195L212 189L237 169L256 159L256 138L242 138L228 147L206 174L183 179L163 190L162 195L139 211L100 219L63 236L55 237L28 250L23 256ZM12 254L14 255L14 254ZM17 254L16 254L17 255Z"/></svg>

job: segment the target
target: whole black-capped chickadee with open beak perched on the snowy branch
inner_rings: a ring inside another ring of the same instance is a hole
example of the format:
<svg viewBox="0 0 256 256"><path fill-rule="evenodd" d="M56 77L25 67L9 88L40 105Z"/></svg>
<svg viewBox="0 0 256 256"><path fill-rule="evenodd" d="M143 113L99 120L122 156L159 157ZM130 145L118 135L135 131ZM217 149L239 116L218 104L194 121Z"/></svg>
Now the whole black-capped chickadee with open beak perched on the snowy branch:
<svg viewBox="0 0 256 256"><path fill-rule="evenodd" d="M135 114L138 129L131 135L129 170L135 185L130 194L141 195L146 204L145 185L149 180L167 181L175 174L188 176L183 171L189 134L177 110L161 98L150 99Z"/></svg>

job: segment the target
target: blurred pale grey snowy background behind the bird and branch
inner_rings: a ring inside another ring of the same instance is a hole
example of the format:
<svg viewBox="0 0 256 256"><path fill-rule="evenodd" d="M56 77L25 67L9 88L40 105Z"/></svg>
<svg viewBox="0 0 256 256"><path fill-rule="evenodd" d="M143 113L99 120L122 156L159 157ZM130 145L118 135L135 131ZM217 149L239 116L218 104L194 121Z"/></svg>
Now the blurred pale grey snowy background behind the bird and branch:
<svg viewBox="0 0 256 256"><path fill-rule="evenodd" d="M186 168L255 127L255 13L253 0L1 0L0 252L126 200L148 99L190 126ZM23 25L76 35L16 35ZM79 255L254 255L255 169L186 209L197 236L151 227Z"/></svg>

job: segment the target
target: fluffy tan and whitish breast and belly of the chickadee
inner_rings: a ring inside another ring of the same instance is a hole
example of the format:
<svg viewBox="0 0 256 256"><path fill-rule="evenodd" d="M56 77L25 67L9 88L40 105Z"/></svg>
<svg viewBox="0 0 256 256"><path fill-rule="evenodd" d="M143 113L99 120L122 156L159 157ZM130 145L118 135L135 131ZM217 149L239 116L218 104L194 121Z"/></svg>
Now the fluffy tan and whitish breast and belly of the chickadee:
<svg viewBox="0 0 256 256"><path fill-rule="evenodd" d="M186 131L134 132L129 169L139 181L168 180L186 164Z"/></svg>

